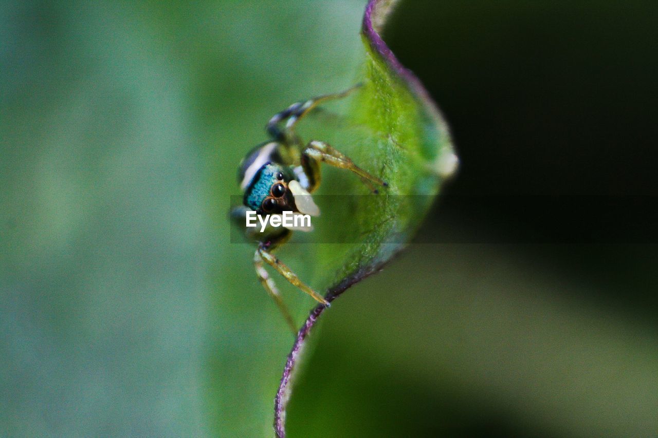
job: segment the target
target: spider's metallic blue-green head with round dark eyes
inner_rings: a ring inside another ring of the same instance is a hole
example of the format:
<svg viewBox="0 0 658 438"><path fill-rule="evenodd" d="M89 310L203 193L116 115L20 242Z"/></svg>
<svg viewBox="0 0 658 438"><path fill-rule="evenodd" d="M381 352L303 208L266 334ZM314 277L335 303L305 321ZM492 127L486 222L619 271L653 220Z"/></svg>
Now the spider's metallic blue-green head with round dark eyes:
<svg viewBox="0 0 658 438"><path fill-rule="evenodd" d="M288 169L280 164L266 162L255 172L244 195L245 207L261 213L290 210L288 199Z"/></svg>

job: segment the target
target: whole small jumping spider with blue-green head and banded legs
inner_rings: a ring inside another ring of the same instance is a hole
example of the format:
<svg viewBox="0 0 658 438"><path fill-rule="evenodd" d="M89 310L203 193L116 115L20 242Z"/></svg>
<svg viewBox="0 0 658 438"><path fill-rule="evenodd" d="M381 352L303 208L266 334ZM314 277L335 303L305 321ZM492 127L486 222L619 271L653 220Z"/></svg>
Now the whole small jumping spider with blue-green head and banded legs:
<svg viewBox="0 0 658 438"><path fill-rule="evenodd" d="M325 143L324 141L309 141L303 143L295 134L295 124L320 103L330 99L345 97L353 89L343 93L315 97L290 105L288 109L274 115L266 126L270 141L253 148L240 164L238 180L243 190L243 205L232 210L232 216L245 226L249 212L270 216L318 216L320 209L315 205L311 193L320 185L320 162L325 162L338 168L350 170L357 174L361 181L373 193L378 193L378 186L386 187L386 183L372 176L351 159ZM285 124L284 124L285 122ZM285 212L285 213L284 213ZM258 242L254 255L256 274L267 293L280 308L290 328L296 331L293 319L282 301L274 281L263 266L266 262L286 280L311 295L319 303L329 303L322 295L302 283L288 266L272 255L272 251L288 241L294 230L311 231L310 223L293 220L286 222L289 226L265 226L260 232L250 233ZM280 222L283 224L283 222Z"/></svg>

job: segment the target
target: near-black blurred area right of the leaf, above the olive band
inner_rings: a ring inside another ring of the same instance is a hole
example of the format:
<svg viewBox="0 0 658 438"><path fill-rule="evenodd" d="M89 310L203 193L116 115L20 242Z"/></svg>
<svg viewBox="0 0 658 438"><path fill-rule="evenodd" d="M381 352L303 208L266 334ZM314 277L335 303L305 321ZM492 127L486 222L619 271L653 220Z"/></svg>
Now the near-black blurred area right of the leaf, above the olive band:
<svg viewBox="0 0 658 438"><path fill-rule="evenodd" d="M653 316L657 20L646 1L403 2L388 42L462 162L424 232L555 243L597 298Z"/></svg>

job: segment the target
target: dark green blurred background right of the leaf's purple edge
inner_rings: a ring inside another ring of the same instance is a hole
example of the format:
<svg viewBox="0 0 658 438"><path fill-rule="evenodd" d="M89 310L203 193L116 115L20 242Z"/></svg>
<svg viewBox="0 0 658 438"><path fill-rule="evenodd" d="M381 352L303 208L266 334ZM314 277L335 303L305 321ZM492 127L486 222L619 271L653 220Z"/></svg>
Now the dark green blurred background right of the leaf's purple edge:
<svg viewBox="0 0 658 438"><path fill-rule="evenodd" d="M339 412L343 433L355 435L655 433L658 369L644 368L656 372L645 380L633 371L640 356L614 351L655 348L656 22L658 5L647 1L401 3L385 39L442 109L461 167L395 274L357 285L349 310L328 316L293 424ZM432 262L440 272L413 274ZM394 299L355 297L391 283ZM418 299L426 303L407 303ZM571 307L584 326L569 326L560 306L534 308L535 299ZM409 308L414 323L397 316ZM378 326L363 328L374 315ZM645 337L640 327L650 328ZM612 337L595 347L605 331ZM405 345L410 360L426 356L418 349L441 353L409 370L399 352L373 353L375 339ZM428 364L440 381L422 377ZM323 370L330 377L318 378ZM400 376L413 377L400 388ZM361 394L358 407L344 406L351 393ZM323 397L331 400L311 407ZM629 406L651 407L634 420L612 414Z"/></svg>

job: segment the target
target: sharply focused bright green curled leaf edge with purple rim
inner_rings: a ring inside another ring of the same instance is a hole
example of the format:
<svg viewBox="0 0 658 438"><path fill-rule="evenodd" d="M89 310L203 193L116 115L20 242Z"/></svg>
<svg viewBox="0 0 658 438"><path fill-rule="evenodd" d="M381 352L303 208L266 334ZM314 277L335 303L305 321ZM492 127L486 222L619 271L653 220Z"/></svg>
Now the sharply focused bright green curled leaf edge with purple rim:
<svg viewBox="0 0 658 438"><path fill-rule="evenodd" d="M351 129L337 130L332 144L355 162L388 183L379 195L364 193L358 178L339 176L324 182L320 193L330 197L323 224L316 236L321 241L347 241L345 245L313 245L308 262L316 266L313 285L333 301L350 285L376 272L413 235L438 193L443 180L453 173L457 157L440 112L420 82L395 59L381 39L381 30L394 1L372 0L363 20L365 61L361 84L349 105L346 119ZM326 134L330 135L330 134ZM324 139L326 140L326 139ZM364 164L365 165L365 164ZM311 312L297 335L288 357L276 398L275 429L285 434L285 411L291 395L297 361L307 336L324 311L320 304Z"/></svg>

